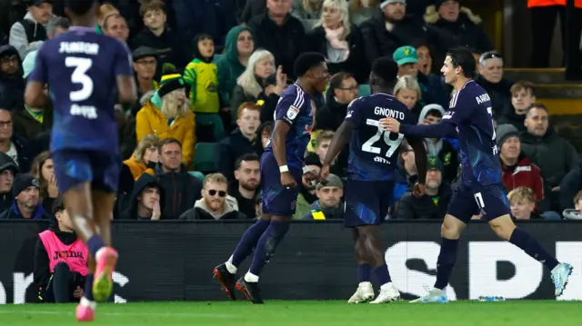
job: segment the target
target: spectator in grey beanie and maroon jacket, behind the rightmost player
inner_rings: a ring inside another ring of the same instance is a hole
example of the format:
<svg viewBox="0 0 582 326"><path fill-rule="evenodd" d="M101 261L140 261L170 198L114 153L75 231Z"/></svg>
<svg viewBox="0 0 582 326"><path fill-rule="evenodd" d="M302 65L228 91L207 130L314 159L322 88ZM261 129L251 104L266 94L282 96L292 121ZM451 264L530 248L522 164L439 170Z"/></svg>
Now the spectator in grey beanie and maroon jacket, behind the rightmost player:
<svg viewBox="0 0 582 326"><path fill-rule="evenodd" d="M521 153L519 132L511 124L500 124L496 130L497 149L503 171L503 185L508 191L517 187L527 187L536 193L538 201L544 199L544 181L536 164L531 163L526 155ZM544 205L546 206L546 205ZM547 211L549 207L544 207Z"/></svg>

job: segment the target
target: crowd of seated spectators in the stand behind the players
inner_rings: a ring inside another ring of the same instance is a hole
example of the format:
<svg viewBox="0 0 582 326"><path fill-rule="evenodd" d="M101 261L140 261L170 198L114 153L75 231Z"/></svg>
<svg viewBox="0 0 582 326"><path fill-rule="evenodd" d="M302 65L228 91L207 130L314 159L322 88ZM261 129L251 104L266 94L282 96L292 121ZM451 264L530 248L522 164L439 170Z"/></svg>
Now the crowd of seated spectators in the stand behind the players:
<svg viewBox="0 0 582 326"><path fill-rule="evenodd" d="M52 108L28 107L23 97L36 51L69 22L56 0L3 5L0 219L54 219L61 205L54 205L58 181L47 152ZM581 218L576 149L549 124L534 84L504 77L503 57L462 2L118 0L101 5L99 14L98 32L132 50L140 95L134 107L115 108L124 164L114 219L255 219L260 155L299 54L325 54L333 74L326 93L313 99L316 124L305 162L318 173L348 104L369 94L377 57L399 65L394 95L418 123L437 123L452 95L439 69L455 45L472 49L477 83L492 99L514 217ZM459 146L456 139L426 139L426 149L426 195L416 198L410 193L415 154L406 142L401 146L386 219L444 218L457 186ZM342 219L347 158L348 148L336 158L329 183L300 185L295 219Z"/></svg>

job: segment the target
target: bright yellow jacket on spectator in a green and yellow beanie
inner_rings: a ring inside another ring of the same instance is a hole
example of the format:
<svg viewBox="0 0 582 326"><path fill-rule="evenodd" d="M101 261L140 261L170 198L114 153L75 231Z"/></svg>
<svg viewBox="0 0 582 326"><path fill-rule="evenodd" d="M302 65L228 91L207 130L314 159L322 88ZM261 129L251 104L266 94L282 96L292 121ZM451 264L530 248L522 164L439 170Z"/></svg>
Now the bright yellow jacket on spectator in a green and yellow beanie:
<svg viewBox="0 0 582 326"><path fill-rule="evenodd" d="M147 101L135 117L135 133L137 134L137 143L150 133L155 133L162 141L166 138L176 138L182 143L182 163L190 166L196 143L194 114L192 112L188 112L186 118L178 116L172 125L169 125L162 111L155 104Z"/></svg>

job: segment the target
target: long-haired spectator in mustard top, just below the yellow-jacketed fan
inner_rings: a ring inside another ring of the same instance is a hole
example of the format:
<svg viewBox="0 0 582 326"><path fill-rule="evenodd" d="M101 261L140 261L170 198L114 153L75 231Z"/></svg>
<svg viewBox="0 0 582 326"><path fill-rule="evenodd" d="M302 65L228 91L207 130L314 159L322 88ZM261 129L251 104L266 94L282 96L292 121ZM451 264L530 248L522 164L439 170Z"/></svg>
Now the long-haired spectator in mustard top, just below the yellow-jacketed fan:
<svg viewBox="0 0 582 326"><path fill-rule="evenodd" d="M137 180L142 173L155 173L156 165L159 162L159 146L160 139L156 134L146 134L135 147L131 157L124 161L134 180Z"/></svg>

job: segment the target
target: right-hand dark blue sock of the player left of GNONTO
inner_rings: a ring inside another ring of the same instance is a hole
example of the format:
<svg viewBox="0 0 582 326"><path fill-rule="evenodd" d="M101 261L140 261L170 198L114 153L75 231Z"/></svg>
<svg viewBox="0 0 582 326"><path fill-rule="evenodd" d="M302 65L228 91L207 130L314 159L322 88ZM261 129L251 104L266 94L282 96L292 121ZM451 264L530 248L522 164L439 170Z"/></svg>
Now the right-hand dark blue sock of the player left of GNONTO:
<svg viewBox="0 0 582 326"><path fill-rule="evenodd" d="M261 235L261 238L256 243L255 255L249 272L254 275L260 275L266 263L275 253L276 246L283 240L286 232L289 231L288 221L271 221L269 227Z"/></svg>

